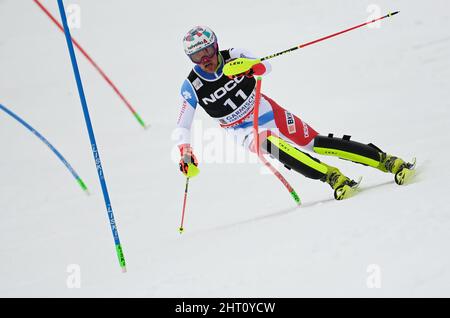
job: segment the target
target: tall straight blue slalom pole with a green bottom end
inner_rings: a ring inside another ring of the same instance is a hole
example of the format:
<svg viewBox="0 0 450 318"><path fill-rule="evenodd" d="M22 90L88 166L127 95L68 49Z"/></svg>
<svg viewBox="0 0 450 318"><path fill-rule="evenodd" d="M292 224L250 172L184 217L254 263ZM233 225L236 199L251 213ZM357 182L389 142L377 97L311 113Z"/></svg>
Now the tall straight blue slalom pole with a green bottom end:
<svg viewBox="0 0 450 318"><path fill-rule="evenodd" d="M75 56L75 50L72 44L72 36L70 35L70 30L67 25L66 12L64 10L64 4L62 0L58 0L59 13L61 14L61 20L64 26L64 34L66 35L67 47L69 49L70 60L72 61L73 73L75 75L75 80L77 82L78 93L80 95L81 107L83 108L84 119L86 121L86 127L89 133L89 140L91 142L92 154L94 155L94 161L97 167L98 178L100 180L100 185L102 187L103 198L105 200L106 211L108 213L109 223L111 225L112 235L114 237L114 243L116 245L116 253L119 259L120 267L122 272L126 272L125 256L123 255L122 245L120 244L119 231L117 229L116 221L114 220L114 213L112 210L111 200L108 194L108 188L106 187L106 180L103 174L102 163L100 160L100 154L97 148L97 143L95 141L94 130L92 128L91 118L89 115L89 109L86 102L86 96L84 95L83 83L81 82L80 71L78 69L77 58Z"/></svg>

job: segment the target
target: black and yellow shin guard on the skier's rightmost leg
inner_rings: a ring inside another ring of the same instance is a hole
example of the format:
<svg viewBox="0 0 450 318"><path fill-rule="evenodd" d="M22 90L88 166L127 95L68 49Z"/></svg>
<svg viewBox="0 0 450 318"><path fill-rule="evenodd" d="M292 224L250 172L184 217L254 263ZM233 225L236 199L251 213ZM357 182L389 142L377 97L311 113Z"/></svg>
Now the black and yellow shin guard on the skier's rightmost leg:
<svg viewBox="0 0 450 318"><path fill-rule="evenodd" d="M373 144L362 144L350 140L350 136L335 138L333 134L317 136L314 139L314 151L321 155L335 156L366 166L378 167L382 151Z"/></svg>

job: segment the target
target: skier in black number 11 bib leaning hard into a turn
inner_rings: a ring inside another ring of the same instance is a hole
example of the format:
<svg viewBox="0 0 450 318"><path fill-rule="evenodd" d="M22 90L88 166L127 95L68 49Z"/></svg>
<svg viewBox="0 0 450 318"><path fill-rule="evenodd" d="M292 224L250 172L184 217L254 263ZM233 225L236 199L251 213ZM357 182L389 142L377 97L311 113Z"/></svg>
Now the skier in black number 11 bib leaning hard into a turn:
<svg viewBox="0 0 450 318"><path fill-rule="evenodd" d="M238 138L238 142L256 152L253 140L253 107L255 102L255 75L271 71L265 61L245 73L227 77L223 66L236 58L254 58L241 49L219 50L217 37L208 27L192 28L183 39L184 51L196 65L181 87L182 107L177 130L181 137L178 147L181 153L180 170L186 175L189 163L198 165L190 145L190 128L195 110L200 105L219 125ZM262 94L259 110L260 147L264 153L279 160L289 170L328 183L337 200L346 198L344 187L358 185L338 168L319 161L293 145L321 155L337 156L383 172L395 175L402 184L413 164L389 155L373 144L350 140L350 136L336 138L332 134L320 135L299 117L285 110L273 99Z"/></svg>

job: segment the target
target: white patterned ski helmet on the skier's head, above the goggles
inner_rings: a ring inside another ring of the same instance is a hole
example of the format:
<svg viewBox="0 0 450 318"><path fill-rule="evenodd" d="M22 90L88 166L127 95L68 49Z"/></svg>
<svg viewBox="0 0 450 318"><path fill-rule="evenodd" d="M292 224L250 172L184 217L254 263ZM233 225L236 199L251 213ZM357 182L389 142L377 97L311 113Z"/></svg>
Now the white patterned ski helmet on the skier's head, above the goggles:
<svg viewBox="0 0 450 318"><path fill-rule="evenodd" d="M212 47L217 50L217 37L210 28L206 26L196 26L189 30L183 38L184 52L189 57L205 48Z"/></svg>

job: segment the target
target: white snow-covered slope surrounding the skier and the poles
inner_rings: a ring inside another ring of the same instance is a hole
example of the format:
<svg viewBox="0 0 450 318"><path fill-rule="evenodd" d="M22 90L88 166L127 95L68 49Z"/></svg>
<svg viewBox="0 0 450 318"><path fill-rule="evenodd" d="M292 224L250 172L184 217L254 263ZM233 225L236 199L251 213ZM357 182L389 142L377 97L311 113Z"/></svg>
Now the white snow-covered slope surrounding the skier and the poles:
<svg viewBox="0 0 450 318"><path fill-rule="evenodd" d="M59 19L56 1L43 3ZM1 0L0 103L56 146L92 195L0 113L0 296L450 296L448 1L66 1L77 3L73 36L151 123L140 128L77 54L128 273L116 259L63 34L32 1ZM304 201L296 208L254 158L214 162L223 134L198 111L201 174L180 235L184 178L172 132L191 67L184 33L209 25L222 48L264 56L361 23L377 6L401 13L273 59L263 90L324 134L416 156L415 182L398 187L391 175L317 155L364 176L362 192L335 202L327 185L282 169ZM80 266L81 288L68 288L70 264ZM375 274L380 288L369 288Z"/></svg>

